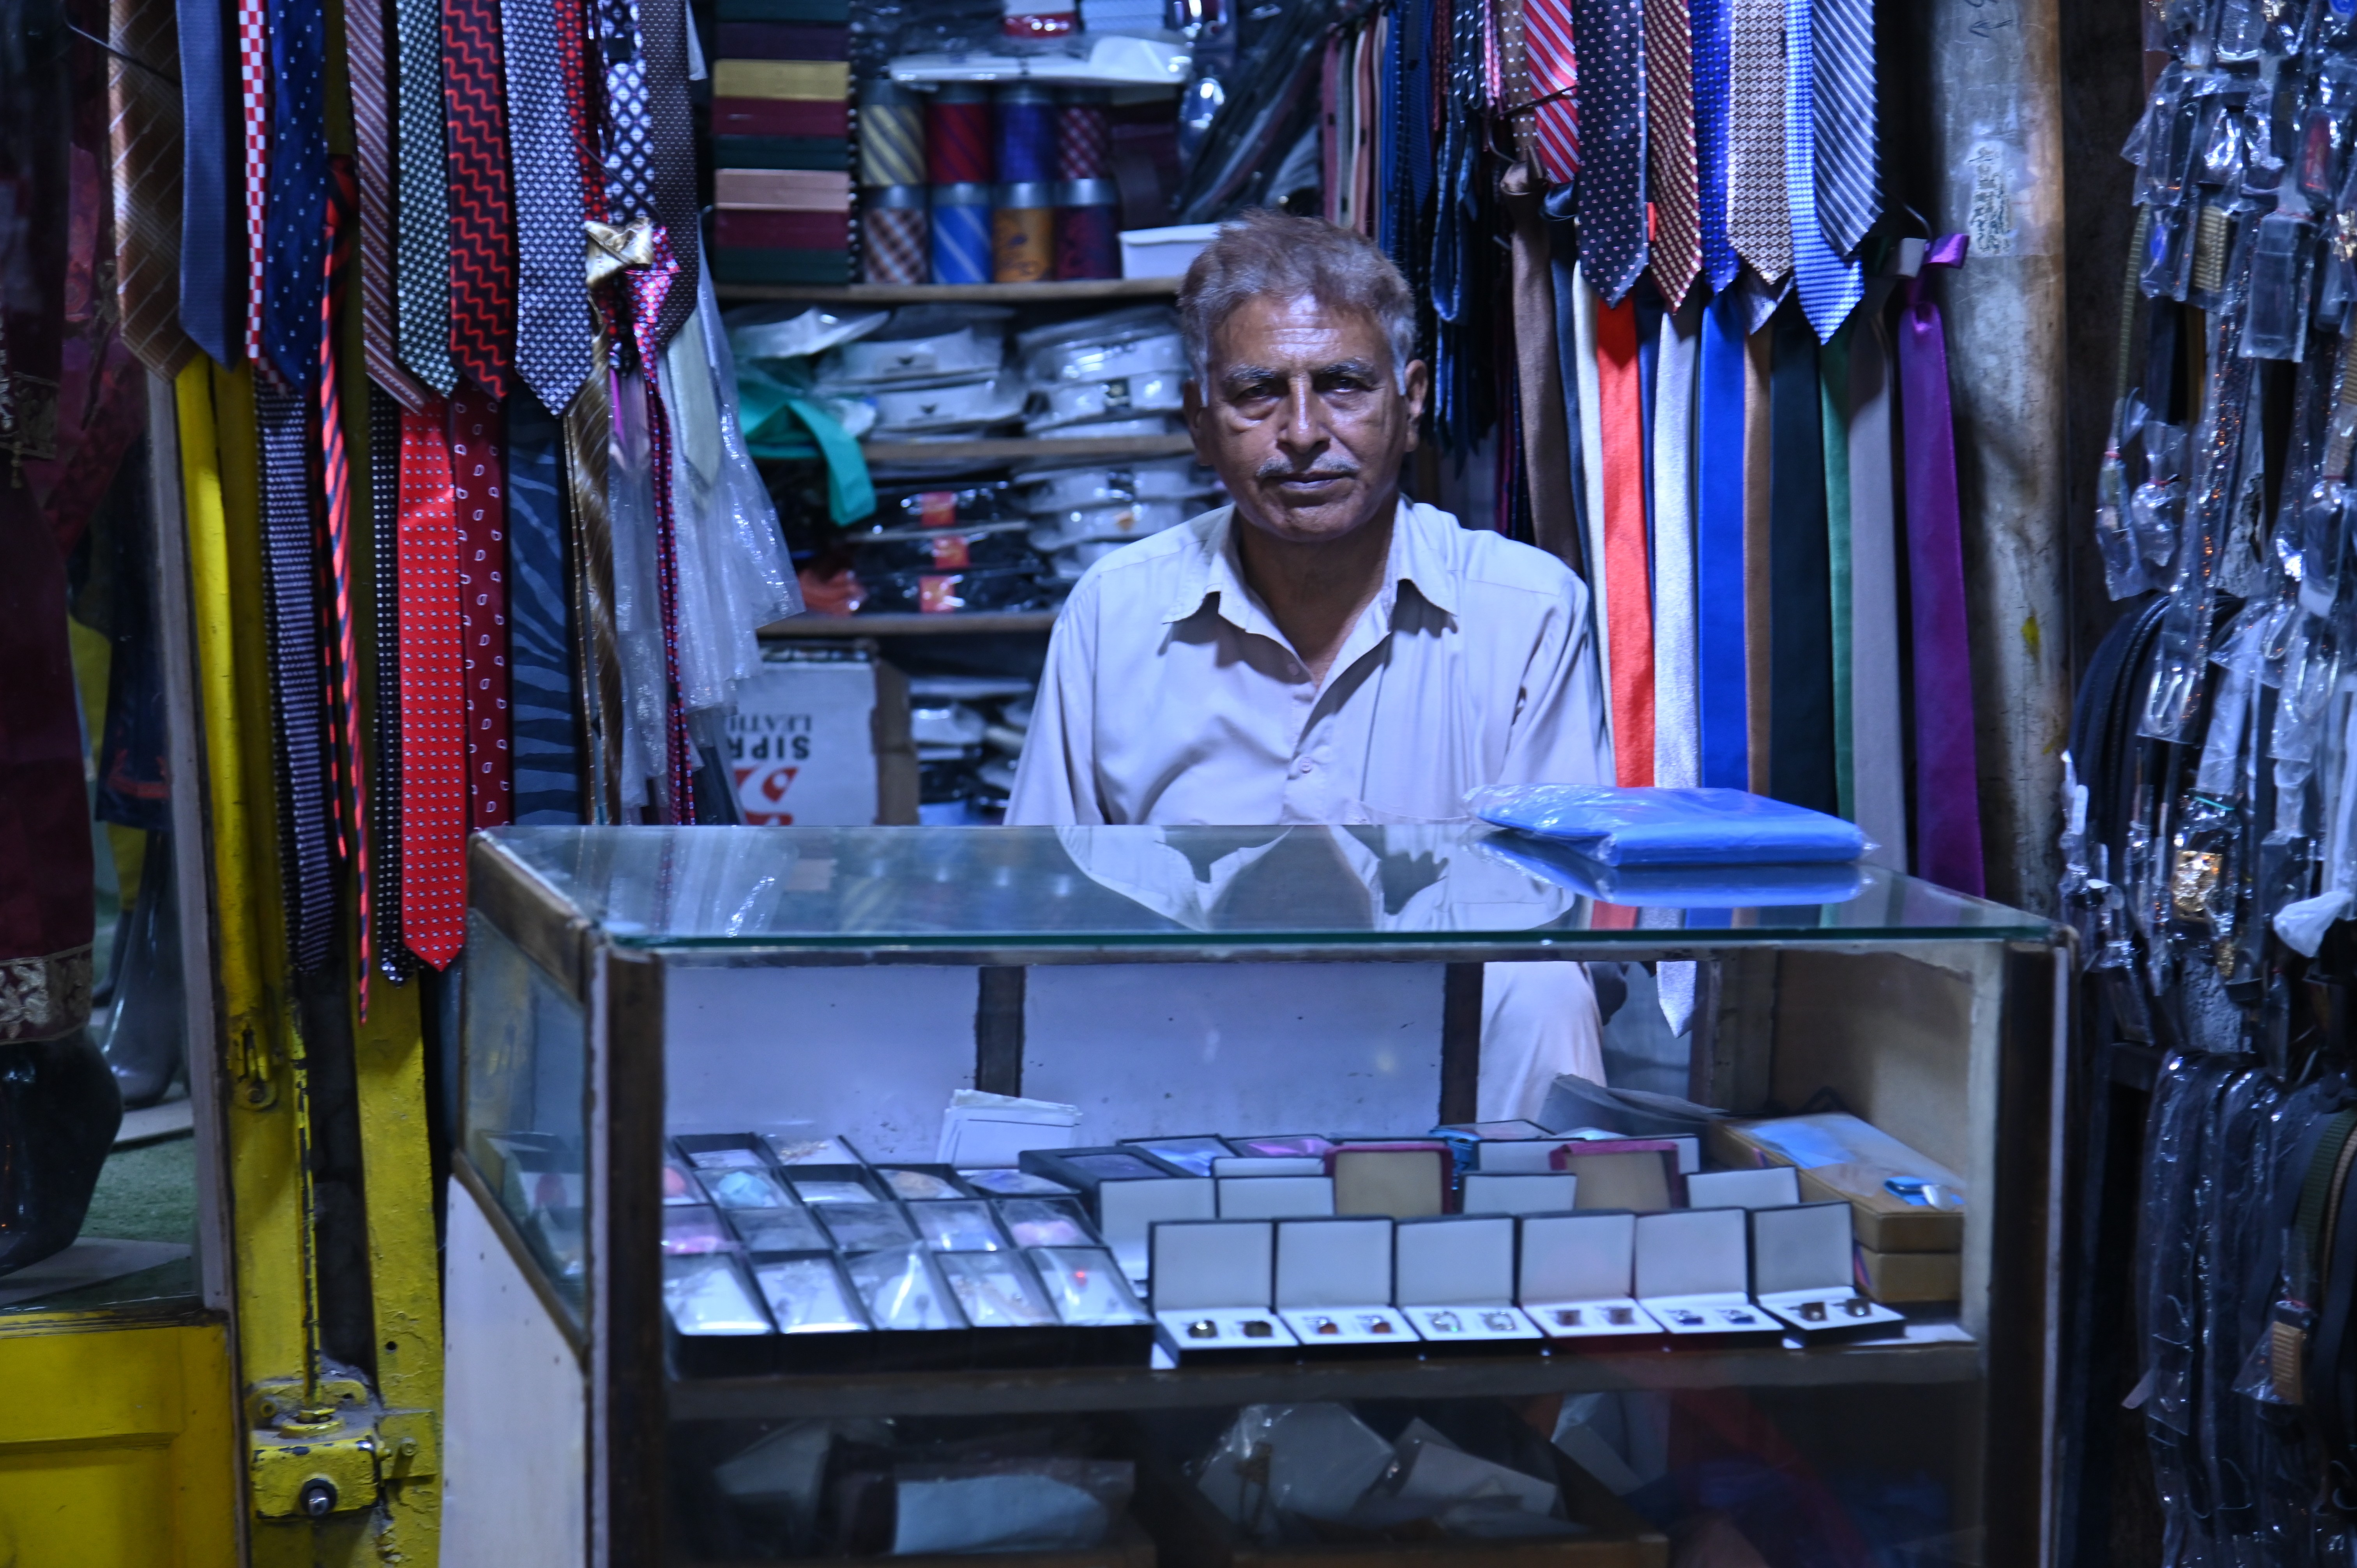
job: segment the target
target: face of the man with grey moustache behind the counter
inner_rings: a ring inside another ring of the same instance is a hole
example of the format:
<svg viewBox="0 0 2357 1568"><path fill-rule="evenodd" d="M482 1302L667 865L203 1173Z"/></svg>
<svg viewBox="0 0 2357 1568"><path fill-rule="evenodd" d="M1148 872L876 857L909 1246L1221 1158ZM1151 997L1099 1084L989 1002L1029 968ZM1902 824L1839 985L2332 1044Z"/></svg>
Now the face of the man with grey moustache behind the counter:
<svg viewBox="0 0 2357 1568"><path fill-rule="evenodd" d="M1424 361L1393 380L1391 340L1360 311L1252 299L1211 335L1204 384L1188 384L1195 457L1237 514L1282 540L1339 540L1391 505L1417 446Z"/></svg>

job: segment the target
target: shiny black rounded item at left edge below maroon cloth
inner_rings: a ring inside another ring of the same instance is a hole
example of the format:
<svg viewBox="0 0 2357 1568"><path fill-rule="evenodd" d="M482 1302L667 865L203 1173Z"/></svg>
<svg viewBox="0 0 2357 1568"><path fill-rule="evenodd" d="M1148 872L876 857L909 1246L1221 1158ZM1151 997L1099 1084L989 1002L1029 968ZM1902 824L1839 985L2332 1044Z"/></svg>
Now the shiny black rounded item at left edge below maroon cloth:
<svg viewBox="0 0 2357 1568"><path fill-rule="evenodd" d="M0 1276L73 1245L120 1127L87 1033L0 1045Z"/></svg>

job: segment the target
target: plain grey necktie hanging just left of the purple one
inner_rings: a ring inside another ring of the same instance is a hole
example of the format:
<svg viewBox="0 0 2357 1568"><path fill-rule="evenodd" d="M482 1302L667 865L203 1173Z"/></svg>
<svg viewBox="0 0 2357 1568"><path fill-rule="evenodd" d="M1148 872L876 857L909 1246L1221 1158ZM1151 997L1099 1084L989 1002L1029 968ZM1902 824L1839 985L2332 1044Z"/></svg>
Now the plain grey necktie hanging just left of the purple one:
<svg viewBox="0 0 2357 1568"><path fill-rule="evenodd" d="M1850 733L1857 816L1876 849L1867 861L1907 870L1907 731L1900 672L1897 493L1890 429L1890 278L1867 283L1850 335Z"/></svg>

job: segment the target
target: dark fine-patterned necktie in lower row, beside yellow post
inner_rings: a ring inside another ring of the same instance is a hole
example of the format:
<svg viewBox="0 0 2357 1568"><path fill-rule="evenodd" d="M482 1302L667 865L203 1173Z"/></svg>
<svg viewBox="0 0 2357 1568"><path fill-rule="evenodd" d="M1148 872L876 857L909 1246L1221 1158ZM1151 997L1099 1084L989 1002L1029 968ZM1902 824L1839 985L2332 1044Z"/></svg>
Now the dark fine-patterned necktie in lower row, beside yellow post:
<svg viewBox="0 0 2357 1568"><path fill-rule="evenodd" d="M313 354L318 323L311 325ZM335 795L328 778L328 700L321 677L318 556L313 552L313 441L309 375L299 387L255 377L255 422L262 429L262 592L276 710L273 764L278 773L278 877L285 898L288 946L295 967L318 969L335 938L332 835Z"/></svg>

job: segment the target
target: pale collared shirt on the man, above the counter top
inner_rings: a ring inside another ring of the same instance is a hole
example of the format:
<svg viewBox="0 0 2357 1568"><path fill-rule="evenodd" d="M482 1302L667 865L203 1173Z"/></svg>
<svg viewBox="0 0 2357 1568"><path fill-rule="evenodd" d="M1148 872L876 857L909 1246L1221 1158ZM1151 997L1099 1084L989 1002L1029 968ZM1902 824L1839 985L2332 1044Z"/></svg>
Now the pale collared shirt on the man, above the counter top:
<svg viewBox="0 0 2357 1568"><path fill-rule="evenodd" d="M1235 509L1098 561L1049 641L1009 823L1419 823L1610 780L1586 585L1400 502L1325 686L1244 587Z"/></svg>

